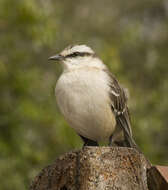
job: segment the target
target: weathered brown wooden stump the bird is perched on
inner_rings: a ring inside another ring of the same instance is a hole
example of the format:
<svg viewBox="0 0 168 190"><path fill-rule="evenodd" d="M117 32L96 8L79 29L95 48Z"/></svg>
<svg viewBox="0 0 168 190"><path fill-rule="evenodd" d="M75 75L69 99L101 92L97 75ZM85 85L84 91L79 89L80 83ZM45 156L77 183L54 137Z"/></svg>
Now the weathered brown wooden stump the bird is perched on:
<svg viewBox="0 0 168 190"><path fill-rule="evenodd" d="M148 166L135 149L85 147L57 158L30 190L148 190Z"/></svg>

